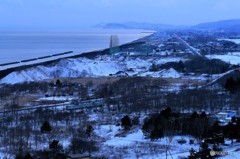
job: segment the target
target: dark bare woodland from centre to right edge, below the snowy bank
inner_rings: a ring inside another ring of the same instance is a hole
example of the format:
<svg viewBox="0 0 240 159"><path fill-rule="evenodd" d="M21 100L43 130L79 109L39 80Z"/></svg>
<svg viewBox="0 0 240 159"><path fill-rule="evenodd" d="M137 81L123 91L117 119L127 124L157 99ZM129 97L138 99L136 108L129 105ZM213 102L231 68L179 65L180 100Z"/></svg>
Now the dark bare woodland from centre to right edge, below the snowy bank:
<svg viewBox="0 0 240 159"><path fill-rule="evenodd" d="M238 109L237 94L221 89L196 88L168 91L169 83L163 79L143 77L122 78L113 84L102 85L95 92L106 98L120 113L154 111L169 106L177 111L217 112ZM111 98L117 97L117 98Z"/></svg>

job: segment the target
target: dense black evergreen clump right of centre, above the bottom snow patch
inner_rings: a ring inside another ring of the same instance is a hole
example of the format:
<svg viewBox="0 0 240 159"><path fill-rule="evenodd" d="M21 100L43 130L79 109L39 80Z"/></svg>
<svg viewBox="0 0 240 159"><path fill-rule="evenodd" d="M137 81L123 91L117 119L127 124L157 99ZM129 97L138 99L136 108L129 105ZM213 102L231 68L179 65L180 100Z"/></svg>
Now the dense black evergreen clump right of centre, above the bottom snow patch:
<svg viewBox="0 0 240 159"><path fill-rule="evenodd" d="M191 135L198 139L207 137L210 123L205 112L181 114L171 108L150 115L145 119L142 130L146 138L152 140L174 135Z"/></svg>

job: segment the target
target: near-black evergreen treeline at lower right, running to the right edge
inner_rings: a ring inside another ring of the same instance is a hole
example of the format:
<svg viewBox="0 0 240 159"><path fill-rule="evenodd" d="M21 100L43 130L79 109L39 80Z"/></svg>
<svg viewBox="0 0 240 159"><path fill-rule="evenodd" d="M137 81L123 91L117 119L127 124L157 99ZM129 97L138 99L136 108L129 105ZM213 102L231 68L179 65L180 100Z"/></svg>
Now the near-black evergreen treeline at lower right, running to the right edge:
<svg viewBox="0 0 240 159"><path fill-rule="evenodd" d="M216 158L210 156L210 151L222 151L220 144L225 143L225 139L240 141L240 120L236 117L227 125L221 126L218 121L214 124L212 119L205 112L192 114L173 112L171 108L166 108L160 113L152 114L145 119L142 130L145 138L151 140L163 137L173 137L175 135L190 135L202 140L198 151L191 149L189 159ZM186 143L187 141L178 141ZM191 143L192 141L188 141ZM208 144L213 145L212 148Z"/></svg>

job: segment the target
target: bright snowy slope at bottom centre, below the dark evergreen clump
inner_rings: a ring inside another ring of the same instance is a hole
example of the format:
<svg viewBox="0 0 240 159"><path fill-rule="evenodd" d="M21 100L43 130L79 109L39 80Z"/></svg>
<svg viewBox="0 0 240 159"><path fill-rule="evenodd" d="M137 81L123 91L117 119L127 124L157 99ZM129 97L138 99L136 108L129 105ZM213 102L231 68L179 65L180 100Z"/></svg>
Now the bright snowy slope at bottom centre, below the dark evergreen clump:
<svg viewBox="0 0 240 159"><path fill-rule="evenodd" d="M171 151L172 157L174 159L179 159L180 156L187 157L189 155L189 150L191 148L194 148L196 150L199 148L197 144L190 145L186 143L181 145L178 143L178 140L181 140L181 139L185 139L186 141L189 141L190 139L193 139L193 138L189 136L174 136L172 142L169 142L168 137L165 137L161 140L150 141L149 139L145 139L142 130L138 129L135 132L130 133L125 137L110 136L107 139L107 141L104 143L104 145L110 146L110 147L112 146L114 150L125 147L131 152L123 156L123 158L126 158L126 159L136 158L135 157L136 153L141 152L143 149L144 149L144 153L142 152L139 158L144 158L144 159L166 158L166 153L165 153L166 145L169 145L169 151ZM158 153L153 154L149 151L148 148L154 147L154 146L158 147ZM169 158L171 157L169 156Z"/></svg>

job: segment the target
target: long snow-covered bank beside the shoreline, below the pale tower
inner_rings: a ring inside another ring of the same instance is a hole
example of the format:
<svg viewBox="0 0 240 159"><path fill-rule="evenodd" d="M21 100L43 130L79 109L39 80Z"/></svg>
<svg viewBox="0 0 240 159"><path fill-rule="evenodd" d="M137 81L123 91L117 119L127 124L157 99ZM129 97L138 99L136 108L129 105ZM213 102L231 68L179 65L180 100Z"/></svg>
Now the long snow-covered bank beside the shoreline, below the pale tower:
<svg viewBox="0 0 240 159"><path fill-rule="evenodd" d="M0 83L22 83L60 77L105 77L105 76L151 76L179 78L181 75L174 69L150 72L152 64L184 61L182 58L153 58L131 56L100 56L95 59L63 59L55 65L37 66L19 72L13 72Z"/></svg>

